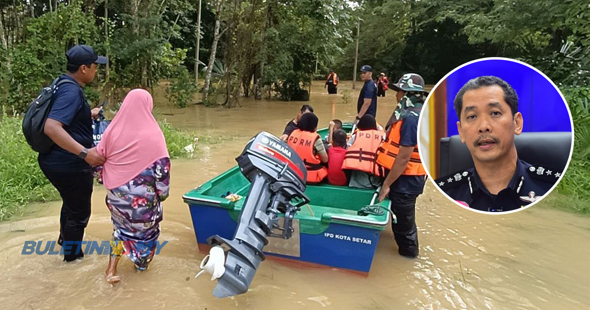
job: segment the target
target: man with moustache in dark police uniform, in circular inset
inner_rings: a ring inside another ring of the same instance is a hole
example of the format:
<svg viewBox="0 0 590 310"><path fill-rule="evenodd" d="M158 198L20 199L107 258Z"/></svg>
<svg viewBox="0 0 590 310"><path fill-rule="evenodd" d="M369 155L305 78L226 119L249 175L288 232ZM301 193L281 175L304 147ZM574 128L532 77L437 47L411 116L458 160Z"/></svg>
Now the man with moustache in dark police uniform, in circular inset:
<svg viewBox="0 0 590 310"><path fill-rule="evenodd" d="M480 211L511 211L539 200L559 180L561 170L518 158L514 135L522 132L523 118L518 96L506 81L495 76L471 79L454 104L461 142L475 167L435 181L451 198Z"/></svg>

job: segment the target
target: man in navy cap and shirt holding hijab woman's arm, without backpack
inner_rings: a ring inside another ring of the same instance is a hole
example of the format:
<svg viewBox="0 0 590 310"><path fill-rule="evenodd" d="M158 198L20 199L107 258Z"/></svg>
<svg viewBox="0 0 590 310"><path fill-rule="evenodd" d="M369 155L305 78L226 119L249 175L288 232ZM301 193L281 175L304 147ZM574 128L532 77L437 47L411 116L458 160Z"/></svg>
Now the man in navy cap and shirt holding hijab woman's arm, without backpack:
<svg viewBox="0 0 590 310"><path fill-rule="evenodd" d="M48 152L40 152L38 162L63 201L58 243L64 260L71 262L84 256L81 241L90 219L91 166L105 161L92 148L92 118L100 108L90 109L82 86L94 80L97 64L106 64L107 58L97 56L87 45L74 45L66 57L67 73L54 82L53 105L44 125L45 135L54 144Z"/></svg>

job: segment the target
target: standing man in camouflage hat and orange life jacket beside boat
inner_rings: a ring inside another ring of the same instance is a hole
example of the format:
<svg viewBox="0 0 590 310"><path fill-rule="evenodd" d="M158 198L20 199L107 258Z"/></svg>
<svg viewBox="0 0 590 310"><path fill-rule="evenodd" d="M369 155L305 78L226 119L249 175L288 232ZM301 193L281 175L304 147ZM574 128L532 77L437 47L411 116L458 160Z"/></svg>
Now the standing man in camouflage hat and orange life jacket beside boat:
<svg viewBox="0 0 590 310"><path fill-rule="evenodd" d="M402 256L418 256L416 199L424 190L426 172L418 153L418 119L427 96L424 79L407 73L394 89L398 106L387 122L387 138L377 152L377 163L389 169L383 181L379 201L389 197L397 223L392 224L398 252Z"/></svg>

